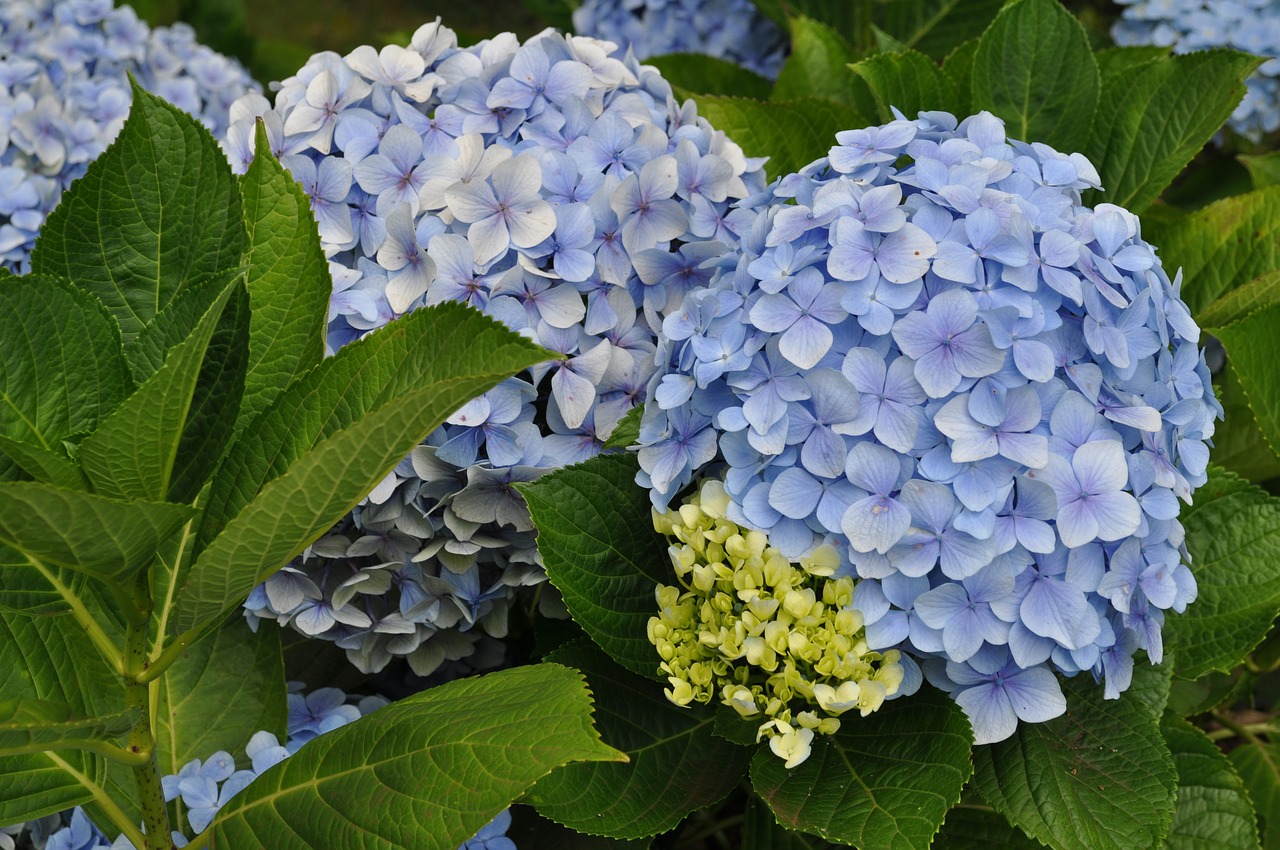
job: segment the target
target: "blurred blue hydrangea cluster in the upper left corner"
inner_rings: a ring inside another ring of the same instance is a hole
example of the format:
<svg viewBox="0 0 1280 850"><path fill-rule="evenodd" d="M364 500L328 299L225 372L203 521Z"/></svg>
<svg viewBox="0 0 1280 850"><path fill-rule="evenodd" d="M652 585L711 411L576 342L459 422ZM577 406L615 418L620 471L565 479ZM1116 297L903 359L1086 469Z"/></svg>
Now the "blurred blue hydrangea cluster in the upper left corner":
<svg viewBox="0 0 1280 850"><path fill-rule="evenodd" d="M150 29L111 0L5 0L0 6L0 268L23 271L63 191L120 132L125 72L215 134L257 84L186 24Z"/></svg>

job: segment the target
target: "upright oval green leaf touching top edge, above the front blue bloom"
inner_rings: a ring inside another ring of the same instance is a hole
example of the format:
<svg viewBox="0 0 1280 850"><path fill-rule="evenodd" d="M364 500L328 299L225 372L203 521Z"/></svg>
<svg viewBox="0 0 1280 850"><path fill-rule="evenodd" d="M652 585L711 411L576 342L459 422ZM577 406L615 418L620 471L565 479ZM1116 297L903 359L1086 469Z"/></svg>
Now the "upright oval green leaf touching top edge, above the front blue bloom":
<svg viewBox="0 0 1280 850"><path fill-rule="evenodd" d="M1098 90L1089 37L1057 0L1005 6L978 42L973 109L1004 118L1010 138L1082 150Z"/></svg>

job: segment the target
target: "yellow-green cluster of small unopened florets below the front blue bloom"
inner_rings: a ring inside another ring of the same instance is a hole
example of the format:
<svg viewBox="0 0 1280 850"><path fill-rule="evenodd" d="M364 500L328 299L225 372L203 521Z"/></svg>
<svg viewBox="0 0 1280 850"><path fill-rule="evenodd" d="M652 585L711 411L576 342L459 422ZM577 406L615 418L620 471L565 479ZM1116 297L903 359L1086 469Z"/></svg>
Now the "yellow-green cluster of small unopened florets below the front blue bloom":
<svg viewBox="0 0 1280 850"><path fill-rule="evenodd" d="M814 734L833 735L838 716L865 717L897 693L896 649L867 648L851 607L854 580L832 577L838 557L818 547L792 563L762 531L728 520L722 483L708 480L678 511L654 511L654 527L675 538L678 588L658 585L649 641L677 705L719 699L759 719L788 768L809 758Z"/></svg>

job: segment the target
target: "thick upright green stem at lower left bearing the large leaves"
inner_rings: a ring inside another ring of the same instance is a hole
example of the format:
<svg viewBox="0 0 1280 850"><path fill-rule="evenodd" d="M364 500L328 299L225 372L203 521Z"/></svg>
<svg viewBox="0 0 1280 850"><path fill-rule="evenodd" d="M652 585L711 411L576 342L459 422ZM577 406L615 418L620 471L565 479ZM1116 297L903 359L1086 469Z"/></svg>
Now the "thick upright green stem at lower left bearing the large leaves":
<svg viewBox="0 0 1280 850"><path fill-rule="evenodd" d="M151 666L147 652L151 588L146 572L142 572L133 585L131 602L132 611L142 614L141 622L133 622L131 618L124 638L124 702L138 712L138 719L129 731L127 749L142 758L142 763L133 766L133 781L138 787L142 826L146 830L146 845L140 850L172 850L169 809L164 801L164 789L160 786L156 737L151 728L151 687L138 681Z"/></svg>

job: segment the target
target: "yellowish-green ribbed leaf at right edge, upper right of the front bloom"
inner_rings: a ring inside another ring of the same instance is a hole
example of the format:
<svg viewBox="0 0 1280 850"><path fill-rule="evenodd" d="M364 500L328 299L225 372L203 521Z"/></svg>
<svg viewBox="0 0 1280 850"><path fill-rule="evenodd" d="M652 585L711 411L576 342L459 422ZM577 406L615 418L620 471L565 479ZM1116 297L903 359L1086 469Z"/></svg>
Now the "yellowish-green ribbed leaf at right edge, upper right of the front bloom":
<svg viewBox="0 0 1280 850"><path fill-rule="evenodd" d="M1165 269L1183 270L1183 301L1199 316L1236 287L1280 269L1280 186L1215 201L1172 224L1144 223L1143 237L1160 248Z"/></svg>

